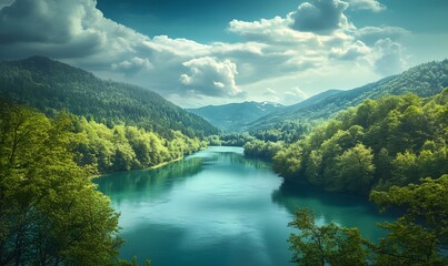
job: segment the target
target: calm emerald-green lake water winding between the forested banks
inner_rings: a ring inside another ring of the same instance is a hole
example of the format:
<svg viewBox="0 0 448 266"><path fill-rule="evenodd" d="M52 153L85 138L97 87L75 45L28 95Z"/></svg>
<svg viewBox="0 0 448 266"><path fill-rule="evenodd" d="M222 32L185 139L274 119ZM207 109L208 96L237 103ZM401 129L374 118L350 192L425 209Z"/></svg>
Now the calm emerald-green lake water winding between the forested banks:
<svg viewBox="0 0 448 266"><path fill-rule="evenodd" d="M152 265L291 265L287 227L296 207L318 223L357 226L376 239L386 217L357 197L288 184L241 147L210 147L156 170L97 178L121 213L121 257Z"/></svg>

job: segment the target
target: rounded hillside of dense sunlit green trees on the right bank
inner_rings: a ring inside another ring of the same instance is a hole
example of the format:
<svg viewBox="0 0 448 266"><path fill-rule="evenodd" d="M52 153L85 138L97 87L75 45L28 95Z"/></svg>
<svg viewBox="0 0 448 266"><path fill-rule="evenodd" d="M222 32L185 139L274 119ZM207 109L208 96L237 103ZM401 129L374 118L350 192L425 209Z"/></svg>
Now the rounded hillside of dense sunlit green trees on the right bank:
<svg viewBox="0 0 448 266"><path fill-rule="evenodd" d="M328 191L368 194L448 173L448 89L367 100L278 152L281 175Z"/></svg>

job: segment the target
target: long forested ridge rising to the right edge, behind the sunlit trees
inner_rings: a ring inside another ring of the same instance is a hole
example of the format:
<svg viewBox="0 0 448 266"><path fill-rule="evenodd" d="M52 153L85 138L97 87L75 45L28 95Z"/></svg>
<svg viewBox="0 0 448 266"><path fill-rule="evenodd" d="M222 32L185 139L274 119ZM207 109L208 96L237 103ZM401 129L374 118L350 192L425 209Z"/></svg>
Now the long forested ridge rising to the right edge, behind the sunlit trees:
<svg viewBox="0 0 448 266"><path fill-rule="evenodd" d="M248 125L250 131L273 127L290 120L328 119L337 112L355 106L367 99L415 93L427 98L448 86L448 60L417 65L398 75L348 91L327 91L301 103L279 110Z"/></svg>

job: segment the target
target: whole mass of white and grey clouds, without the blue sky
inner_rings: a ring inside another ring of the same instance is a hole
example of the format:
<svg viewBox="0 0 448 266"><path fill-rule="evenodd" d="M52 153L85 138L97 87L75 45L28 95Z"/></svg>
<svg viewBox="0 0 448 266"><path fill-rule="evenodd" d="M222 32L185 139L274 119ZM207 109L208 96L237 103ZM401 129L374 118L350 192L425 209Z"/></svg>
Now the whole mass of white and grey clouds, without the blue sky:
<svg viewBox="0 0 448 266"><path fill-rule="evenodd" d="M183 106L246 94L292 104L306 98L300 91L311 95L330 89L329 83L349 89L351 73L362 73L356 80L367 82L402 65L398 40L407 31L357 29L346 9L339 0L315 0L283 17L232 20L227 31L238 42L203 44L143 35L104 18L91 0L17 0L0 10L0 58L51 57L155 90ZM330 82L335 76L345 79ZM296 85L301 90L291 89ZM275 90L266 94L269 90L262 88Z"/></svg>

